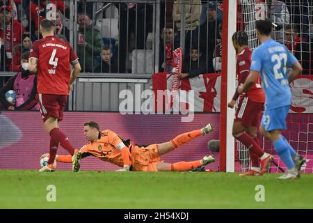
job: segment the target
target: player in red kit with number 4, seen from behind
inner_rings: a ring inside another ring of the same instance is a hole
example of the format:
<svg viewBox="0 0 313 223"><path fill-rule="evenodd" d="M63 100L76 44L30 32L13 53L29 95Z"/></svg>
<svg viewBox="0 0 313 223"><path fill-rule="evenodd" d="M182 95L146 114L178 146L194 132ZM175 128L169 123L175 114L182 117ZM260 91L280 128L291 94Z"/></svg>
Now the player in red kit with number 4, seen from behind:
<svg viewBox="0 0 313 223"><path fill-rule="evenodd" d="M81 66L72 47L54 36L53 22L42 20L40 33L43 38L36 40L31 46L29 71L38 74L40 112L45 130L51 137L49 161L40 171L55 171L54 160L59 144L74 155L69 139L59 130L59 122L63 119L67 95ZM74 68L72 77L70 64Z"/></svg>

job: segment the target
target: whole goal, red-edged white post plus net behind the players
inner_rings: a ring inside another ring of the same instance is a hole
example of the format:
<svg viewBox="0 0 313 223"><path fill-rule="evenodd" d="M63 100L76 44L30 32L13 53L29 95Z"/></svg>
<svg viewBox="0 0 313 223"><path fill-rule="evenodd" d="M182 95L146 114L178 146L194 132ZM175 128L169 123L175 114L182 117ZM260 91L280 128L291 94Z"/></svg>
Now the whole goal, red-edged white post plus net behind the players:
<svg viewBox="0 0 313 223"><path fill-rule="evenodd" d="M236 20L236 17L238 20ZM255 21L266 18L270 18L277 25L273 29L272 38L287 45L287 48L303 65L302 75L290 84L293 98L286 120L287 130L283 130L282 134L296 153L307 160L302 172L312 174L313 1L310 0L223 0L223 40L227 41L223 41L220 87L220 171L246 172L250 169L248 148L232 137L234 109L227 108L227 102L232 98L236 83L232 33L236 30L246 31L249 38L248 45L253 50L259 45L255 35ZM294 35L291 40L286 35L289 32ZM286 167L275 152L271 142L260 133L259 142L264 151L274 155L275 163L272 164L269 171L271 173L285 171Z"/></svg>

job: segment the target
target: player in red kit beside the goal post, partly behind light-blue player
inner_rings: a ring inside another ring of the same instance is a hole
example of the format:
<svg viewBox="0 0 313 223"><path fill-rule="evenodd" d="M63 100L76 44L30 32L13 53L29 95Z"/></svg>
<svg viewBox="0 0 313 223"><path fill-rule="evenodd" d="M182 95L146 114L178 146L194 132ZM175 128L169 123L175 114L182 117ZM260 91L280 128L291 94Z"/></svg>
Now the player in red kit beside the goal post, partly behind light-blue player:
<svg viewBox="0 0 313 223"><path fill-rule="evenodd" d="M248 35L244 31L236 31L232 36L232 43L236 49L236 78L237 88L246 81L250 72L252 52L248 47ZM228 107L234 108L239 93L236 91L234 97L228 103ZM267 170L273 156L264 153L259 146L257 139L257 129L261 114L264 110L265 95L261 87L261 79L258 77L257 82L245 94L240 95L238 107L234 117L232 126L232 135L241 141L241 143L249 149L251 170L240 176L258 176L264 174ZM261 160L261 168L259 167L259 159Z"/></svg>

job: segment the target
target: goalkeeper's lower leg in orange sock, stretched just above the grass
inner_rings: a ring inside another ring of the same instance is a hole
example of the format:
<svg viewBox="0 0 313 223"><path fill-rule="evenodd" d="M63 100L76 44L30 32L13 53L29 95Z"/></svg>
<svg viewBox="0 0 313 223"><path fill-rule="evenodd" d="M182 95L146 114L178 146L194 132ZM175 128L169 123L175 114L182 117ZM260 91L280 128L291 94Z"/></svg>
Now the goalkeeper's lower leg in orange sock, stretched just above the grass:
<svg viewBox="0 0 313 223"><path fill-rule="evenodd" d="M188 171L193 168L202 167L211 162L215 162L214 157L211 155L204 156L202 160L195 160L191 162L175 162L173 164L166 162L158 162L157 163L157 171Z"/></svg>

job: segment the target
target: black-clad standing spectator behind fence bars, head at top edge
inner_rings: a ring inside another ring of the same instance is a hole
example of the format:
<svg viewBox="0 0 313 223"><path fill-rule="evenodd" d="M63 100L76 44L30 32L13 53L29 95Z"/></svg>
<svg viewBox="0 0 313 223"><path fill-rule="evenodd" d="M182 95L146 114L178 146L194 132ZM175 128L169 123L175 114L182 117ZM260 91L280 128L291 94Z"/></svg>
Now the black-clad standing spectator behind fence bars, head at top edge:
<svg viewBox="0 0 313 223"><path fill-rule="evenodd" d="M145 40L147 39L148 16L150 10L147 10L145 3L114 3L118 8L119 22L119 72L128 72L127 63L129 52L133 49L145 49ZM152 12L151 12L152 13Z"/></svg>

